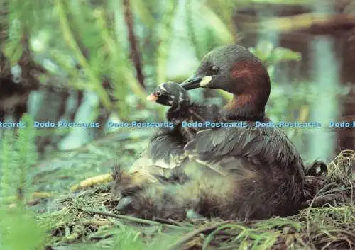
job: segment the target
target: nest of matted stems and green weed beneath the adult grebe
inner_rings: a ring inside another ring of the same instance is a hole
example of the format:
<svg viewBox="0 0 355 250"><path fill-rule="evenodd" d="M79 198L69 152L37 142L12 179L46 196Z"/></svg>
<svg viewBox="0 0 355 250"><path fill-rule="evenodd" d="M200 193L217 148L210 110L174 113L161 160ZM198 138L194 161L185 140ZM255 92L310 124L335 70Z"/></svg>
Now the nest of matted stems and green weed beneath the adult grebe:
<svg viewBox="0 0 355 250"><path fill-rule="evenodd" d="M114 212L118 200L105 186L57 200L59 208L40 221L53 229L48 250L88 243L93 249L355 249L354 164L355 152L345 150L326 174L307 176L305 209L292 217L143 220Z"/></svg>

